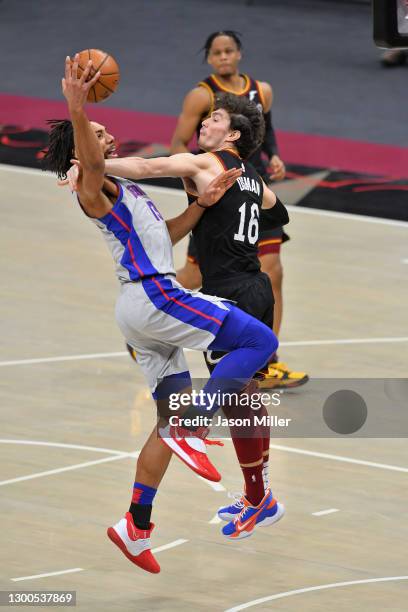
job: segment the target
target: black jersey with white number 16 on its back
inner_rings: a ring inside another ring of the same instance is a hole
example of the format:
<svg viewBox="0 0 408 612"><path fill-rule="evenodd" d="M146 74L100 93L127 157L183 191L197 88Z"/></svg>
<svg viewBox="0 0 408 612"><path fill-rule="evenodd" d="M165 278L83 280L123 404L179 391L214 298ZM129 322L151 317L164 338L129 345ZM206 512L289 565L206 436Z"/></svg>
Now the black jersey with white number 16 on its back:
<svg viewBox="0 0 408 612"><path fill-rule="evenodd" d="M193 229L203 287L256 274L263 183L254 167L228 149L212 153L223 170L242 168L224 196ZM189 195L190 203L196 199Z"/></svg>

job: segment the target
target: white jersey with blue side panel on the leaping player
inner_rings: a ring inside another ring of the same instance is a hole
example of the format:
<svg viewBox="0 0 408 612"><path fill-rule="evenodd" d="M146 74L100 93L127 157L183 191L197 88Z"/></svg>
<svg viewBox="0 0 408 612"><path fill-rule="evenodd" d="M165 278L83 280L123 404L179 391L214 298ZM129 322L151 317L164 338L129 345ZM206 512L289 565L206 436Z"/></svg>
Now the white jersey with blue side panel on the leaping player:
<svg viewBox="0 0 408 612"><path fill-rule="evenodd" d="M173 250L166 222L139 185L112 177L119 195L112 209L92 219L102 231L121 283L156 274L174 274Z"/></svg>

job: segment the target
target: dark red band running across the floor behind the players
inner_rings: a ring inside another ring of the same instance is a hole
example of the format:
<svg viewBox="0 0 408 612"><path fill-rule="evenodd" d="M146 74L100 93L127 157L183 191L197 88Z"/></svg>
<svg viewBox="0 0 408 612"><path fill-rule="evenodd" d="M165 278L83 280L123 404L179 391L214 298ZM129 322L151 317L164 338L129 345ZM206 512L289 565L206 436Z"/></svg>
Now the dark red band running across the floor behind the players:
<svg viewBox="0 0 408 612"><path fill-rule="evenodd" d="M120 141L169 145L177 121L170 115L139 113L102 104L89 104L87 109L91 119L106 125ZM63 100L0 94L0 125L46 129L47 119L67 116ZM406 147L279 130L277 136L280 154L286 163L408 178Z"/></svg>

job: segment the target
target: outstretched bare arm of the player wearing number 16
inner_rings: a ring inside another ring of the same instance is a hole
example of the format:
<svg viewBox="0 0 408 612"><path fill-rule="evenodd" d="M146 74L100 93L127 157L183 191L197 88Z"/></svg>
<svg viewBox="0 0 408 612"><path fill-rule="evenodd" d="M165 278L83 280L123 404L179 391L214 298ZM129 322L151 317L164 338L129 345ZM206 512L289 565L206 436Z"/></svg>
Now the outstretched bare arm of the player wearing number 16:
<svg viewBox="0 0 408 612"><path fill-rule="evenodd" d="M206 167L203 157L192 153L178 153L153 159L119 157L105 160L105 173L135 180L160 176L194 177Z"/></svg>

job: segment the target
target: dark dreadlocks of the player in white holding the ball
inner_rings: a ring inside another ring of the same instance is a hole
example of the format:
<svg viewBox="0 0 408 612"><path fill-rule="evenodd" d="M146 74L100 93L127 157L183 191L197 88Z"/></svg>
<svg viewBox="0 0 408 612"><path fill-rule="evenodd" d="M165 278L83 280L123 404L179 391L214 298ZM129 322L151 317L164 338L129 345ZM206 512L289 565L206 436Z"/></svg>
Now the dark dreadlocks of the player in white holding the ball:
<svg viewBox="0 0 408 612"><path fill-rule="evenodd" d="M49 119L51 131L48 136L48 149L42 159L42 169L55 172L60 179L67 178L74 157L74 128L68 119Z"/></svg>

